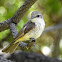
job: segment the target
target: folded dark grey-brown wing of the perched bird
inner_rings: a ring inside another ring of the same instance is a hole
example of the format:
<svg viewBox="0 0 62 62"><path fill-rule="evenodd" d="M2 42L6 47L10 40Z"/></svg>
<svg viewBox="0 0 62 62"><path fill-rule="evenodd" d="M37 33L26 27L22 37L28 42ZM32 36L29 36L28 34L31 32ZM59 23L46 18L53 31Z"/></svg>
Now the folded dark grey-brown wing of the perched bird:
<svg viewBox="0 0 62 62"><path fill-rule="evenodd" d="M20 32L17 34L14 41L18 40L20 37L24 36L26 33L28 33L31 29L35 28L35 23L28 21L20 30Z"/></svg>

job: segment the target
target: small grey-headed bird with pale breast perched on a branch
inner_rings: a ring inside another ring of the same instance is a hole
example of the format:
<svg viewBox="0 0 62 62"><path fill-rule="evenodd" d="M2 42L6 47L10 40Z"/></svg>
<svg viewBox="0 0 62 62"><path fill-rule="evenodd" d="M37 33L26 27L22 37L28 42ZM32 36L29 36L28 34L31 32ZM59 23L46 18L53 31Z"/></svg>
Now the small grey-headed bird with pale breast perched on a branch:
<svg viewBox="0 0 62 62"><path fill-rule="evenodd" d="M33 11L31 13L31 19L21 28L15 39L6 47L2 49L2 52L12 54L21 41L27 41L30 39L37 39L44 31L45 22L43 16L39 11Z"/></svg>

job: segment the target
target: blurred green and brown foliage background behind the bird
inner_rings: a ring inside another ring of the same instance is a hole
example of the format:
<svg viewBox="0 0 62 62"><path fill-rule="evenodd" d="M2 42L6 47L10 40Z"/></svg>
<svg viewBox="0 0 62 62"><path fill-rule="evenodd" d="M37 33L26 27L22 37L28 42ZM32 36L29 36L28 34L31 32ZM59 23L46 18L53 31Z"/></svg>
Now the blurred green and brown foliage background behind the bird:
<svg viewBox="0 0 62 62"><path fill-rule="evenodd" d="M25 0L0 0L0 22L10 18L23 5ZM43 34L35 42L35 46L29 48L18 47L17 50L40 53L42 55L62 59L62 29L50 29L62 23L62 0L37 0L27 11L17 25L17 31L28 21L32 11L39 11L45 20L45 29L49 31ZM62 26L62 25L61 25ZM57 28L57 27L56 27ZM60 28L60 27L59 27ZM13 37L10 30L0 32L0 50L12 42ZM1 54L1 52L0 52Z"/></svg>

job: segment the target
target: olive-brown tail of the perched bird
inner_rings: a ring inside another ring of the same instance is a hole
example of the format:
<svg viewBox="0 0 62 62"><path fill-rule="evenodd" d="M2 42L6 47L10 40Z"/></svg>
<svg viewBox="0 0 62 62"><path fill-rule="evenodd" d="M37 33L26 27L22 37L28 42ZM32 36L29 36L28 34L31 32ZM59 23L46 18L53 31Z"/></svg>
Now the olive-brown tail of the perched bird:
<svg viewBox="0 0 62 62"><path fill-rule="evenodd" d="M12 54L14 52L14 50L17 48L17 46L19 45L20 42L12 42L10 43L6 48L4 48L2 50L2 52L5 52L5 53L10 53Z"/></svg>

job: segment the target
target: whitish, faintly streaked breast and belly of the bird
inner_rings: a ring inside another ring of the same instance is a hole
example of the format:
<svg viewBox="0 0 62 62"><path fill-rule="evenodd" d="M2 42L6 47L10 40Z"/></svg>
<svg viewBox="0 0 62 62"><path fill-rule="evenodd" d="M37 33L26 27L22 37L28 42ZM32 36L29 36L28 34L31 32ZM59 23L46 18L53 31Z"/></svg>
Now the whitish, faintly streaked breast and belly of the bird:
<svg viewBox="0 0 62 62"><path fill-rule="evenodd" d="M35 38L37 39L38 37L40 37L40 35L42 34L44 27L45 27L45 22L43 19L41 18L34 18L32 20L32 22L35 23L35 28L33 30L30 30L27 35L31 38Z"/></svg>

